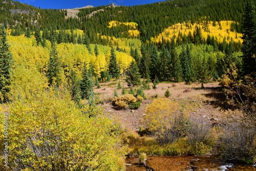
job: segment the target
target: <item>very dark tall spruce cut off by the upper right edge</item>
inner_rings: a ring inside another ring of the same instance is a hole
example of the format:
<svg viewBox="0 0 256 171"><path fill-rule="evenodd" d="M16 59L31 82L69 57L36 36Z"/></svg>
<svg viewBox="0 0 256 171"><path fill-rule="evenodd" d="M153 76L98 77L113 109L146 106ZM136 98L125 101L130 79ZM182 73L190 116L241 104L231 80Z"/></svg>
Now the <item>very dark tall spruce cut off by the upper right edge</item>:
<svg viewBox="0 0 256 171"><path fill-rule="evenodd" d="M256 12L254 1L247 0L243 15L243 75L256 72Z"/></svg>

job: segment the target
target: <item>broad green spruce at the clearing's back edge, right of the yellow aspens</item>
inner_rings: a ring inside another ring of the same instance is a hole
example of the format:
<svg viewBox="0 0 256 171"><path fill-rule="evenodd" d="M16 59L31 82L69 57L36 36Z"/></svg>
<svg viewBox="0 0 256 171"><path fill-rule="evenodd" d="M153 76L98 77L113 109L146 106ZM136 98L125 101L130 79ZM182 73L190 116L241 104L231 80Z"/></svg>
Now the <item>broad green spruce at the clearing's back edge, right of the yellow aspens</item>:
<svg viewBox="0 0 256 171"><path fill-rule="evenodd" d="M141 84L139 68L134 60L127 69L126 75L126 82L129 87L139 86Z"/></svg>

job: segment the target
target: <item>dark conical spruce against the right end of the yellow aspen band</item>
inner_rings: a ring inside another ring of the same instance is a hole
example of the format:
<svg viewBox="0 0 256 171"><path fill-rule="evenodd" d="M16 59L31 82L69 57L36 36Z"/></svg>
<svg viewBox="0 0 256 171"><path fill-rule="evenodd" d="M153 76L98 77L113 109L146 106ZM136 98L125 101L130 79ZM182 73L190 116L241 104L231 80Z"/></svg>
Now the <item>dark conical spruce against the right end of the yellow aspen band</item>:
<svg viewBox="0 0 256 171"><path fill-rule="evenodd" d="M115 49L113 47L111 48L111 55L110 55L108 71L112 78L119 78L120 68L118 66Z"/></svg>

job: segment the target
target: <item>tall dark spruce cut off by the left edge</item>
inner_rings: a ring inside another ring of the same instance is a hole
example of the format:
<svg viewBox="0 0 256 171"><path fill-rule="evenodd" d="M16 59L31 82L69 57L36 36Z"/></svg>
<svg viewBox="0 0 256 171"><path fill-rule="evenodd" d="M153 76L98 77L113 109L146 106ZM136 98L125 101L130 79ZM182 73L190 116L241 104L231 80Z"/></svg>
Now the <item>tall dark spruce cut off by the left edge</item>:
<svg viewBox="0 0 256 171"><path fill-rule="evenodd" d="M11 69L13 57L7 43L7 33L4 25L0 32L0 97L1 101L8 101L11 86Z"/></svg>

